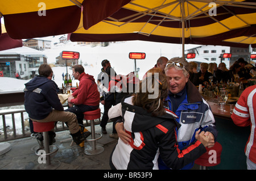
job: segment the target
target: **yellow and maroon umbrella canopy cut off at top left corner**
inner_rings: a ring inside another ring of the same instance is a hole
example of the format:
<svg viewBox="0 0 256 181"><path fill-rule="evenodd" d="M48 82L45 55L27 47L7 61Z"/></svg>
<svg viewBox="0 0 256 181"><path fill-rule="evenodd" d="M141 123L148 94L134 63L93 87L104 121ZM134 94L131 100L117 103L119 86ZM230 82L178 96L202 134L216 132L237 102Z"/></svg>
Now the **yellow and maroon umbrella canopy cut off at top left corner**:
<svg viewBox="0 0 256 181"><path fill-rule="evenodd" d="M1 0L0 18L4 18L11 38L29 39L74 32L80 20L89 28L128 2L130 0ZM100 14L94 14L95 9Z"/></svg>

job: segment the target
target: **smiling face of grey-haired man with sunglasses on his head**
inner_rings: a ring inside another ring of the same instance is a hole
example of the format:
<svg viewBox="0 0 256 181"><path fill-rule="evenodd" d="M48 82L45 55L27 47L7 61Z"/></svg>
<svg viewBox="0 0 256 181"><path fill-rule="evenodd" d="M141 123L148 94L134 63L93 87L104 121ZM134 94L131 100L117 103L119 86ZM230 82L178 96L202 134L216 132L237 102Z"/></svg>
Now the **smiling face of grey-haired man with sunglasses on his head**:
<svg viewBox="0 0 256 181"><path fill-rule="evenodd" d="M184 89L185 84L188 82L188 77L189 74L185 77L183 70L177 70L174 67L166 70L166 78L172 94L177 94Z"/></svg>

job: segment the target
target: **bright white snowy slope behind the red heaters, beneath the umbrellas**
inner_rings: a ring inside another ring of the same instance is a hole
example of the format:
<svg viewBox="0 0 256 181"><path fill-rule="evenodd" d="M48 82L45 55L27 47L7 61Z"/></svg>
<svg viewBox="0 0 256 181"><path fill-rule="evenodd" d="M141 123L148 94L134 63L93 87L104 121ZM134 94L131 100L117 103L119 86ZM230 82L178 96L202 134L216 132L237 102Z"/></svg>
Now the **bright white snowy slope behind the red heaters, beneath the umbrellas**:
<svg viewBox="0 0 256 181"><path fill-rule="evenodd" d="M97 45L75 45L74 43L64 44L63 46L53 47L44 50L48 57L48 63L55 63L55 58L60 55L63 50L73 50L80 52L79 64L88 64L85 66L85 72L97 76L100 73L101 61L107 59L110 61L112 68L117 74L128 74L134 71L134 60L129 59L130 52L146 53L144 60L137 60L137 68L140 68L139 77L143 77L144 73L152 68L156 60L160 56L167 58L181 56L181 45L154 43L147 41L126 41L110 43L108 47Z"/></svg>

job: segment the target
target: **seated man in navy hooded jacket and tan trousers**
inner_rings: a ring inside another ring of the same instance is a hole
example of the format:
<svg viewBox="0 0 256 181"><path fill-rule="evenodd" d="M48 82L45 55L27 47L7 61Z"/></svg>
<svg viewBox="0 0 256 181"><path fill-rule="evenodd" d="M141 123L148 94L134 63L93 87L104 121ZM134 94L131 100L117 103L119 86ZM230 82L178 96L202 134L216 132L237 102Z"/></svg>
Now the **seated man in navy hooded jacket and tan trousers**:
<svg viewBox="0 0 256 181"><path fill-rule="evenodd" d="M55 82L53 82L53 71L47 64L40 65L39 75L25 83L24 106L32 121L47 123L50 121L67 122L73 140L79 145L85 140L81 134L76 115L65 112L57 95Z"/></svg>

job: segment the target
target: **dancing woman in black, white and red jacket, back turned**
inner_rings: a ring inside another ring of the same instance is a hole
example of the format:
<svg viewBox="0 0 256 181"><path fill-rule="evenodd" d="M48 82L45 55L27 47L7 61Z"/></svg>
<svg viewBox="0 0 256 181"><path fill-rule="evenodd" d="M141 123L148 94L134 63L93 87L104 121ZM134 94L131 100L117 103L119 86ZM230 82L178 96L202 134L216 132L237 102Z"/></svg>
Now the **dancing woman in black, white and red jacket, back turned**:
<svg viewBox="0 0 256 181"><path fill-rule="evenodd" d="M143 87L150 83L150 89ZM144 88L147 89L143 90ZM152 97L151 88L154 89L155 97ZM196 132L197 140L183 150L178 148L176 128L180 124L175 120L175 113L163 107L167 94L165 74L162 69L154 69L152 77L139 82L136 94L126 96L121 103L110 108L109 118L122 116L124 129L132 138L129 145L118 140L110 155L112 169L159 169L159 155L171 169L181 169L206 152L205 147L209 145L210 138L204 135L204 131L200 134Z"/></svg>

